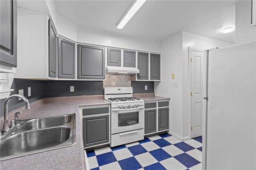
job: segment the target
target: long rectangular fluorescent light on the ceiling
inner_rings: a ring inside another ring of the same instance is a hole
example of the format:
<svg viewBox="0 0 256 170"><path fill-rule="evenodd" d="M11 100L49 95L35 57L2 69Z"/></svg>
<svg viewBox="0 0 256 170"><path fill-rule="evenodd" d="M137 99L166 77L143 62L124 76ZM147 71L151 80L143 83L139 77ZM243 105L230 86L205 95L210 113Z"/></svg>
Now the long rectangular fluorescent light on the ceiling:
<svg viewBox="0 0 256 170"><path fill-rule="evenodd" d="M140 9L146 0L137 0L130 6L130 10L124 14L121 20L116 25L116 28L122 29L124 25L132 18L132 16Z"/></svg>

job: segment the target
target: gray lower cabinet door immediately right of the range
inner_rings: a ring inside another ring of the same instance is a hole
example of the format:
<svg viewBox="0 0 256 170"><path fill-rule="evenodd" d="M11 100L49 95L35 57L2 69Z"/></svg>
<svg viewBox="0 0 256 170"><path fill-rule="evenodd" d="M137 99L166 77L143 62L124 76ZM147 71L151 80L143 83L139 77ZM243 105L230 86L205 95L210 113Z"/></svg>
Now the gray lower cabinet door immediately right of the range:
<svg viewBox="0 0 256 170"><path fill-rule="evenodd" d="M145 110L145 134L156 132L156 109Z"/></svg>

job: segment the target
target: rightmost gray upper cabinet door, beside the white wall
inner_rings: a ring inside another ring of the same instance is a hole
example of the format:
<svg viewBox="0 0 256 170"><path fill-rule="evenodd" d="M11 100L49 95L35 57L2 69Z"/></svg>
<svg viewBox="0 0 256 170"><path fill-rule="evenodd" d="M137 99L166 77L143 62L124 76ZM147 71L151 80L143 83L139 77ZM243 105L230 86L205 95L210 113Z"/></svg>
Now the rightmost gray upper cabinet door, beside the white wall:
<svg viewBox="0 0 256 170"><path fill-rule="evenodd" d="M150 79L160 80L160 55L150 54Z"/></svg>

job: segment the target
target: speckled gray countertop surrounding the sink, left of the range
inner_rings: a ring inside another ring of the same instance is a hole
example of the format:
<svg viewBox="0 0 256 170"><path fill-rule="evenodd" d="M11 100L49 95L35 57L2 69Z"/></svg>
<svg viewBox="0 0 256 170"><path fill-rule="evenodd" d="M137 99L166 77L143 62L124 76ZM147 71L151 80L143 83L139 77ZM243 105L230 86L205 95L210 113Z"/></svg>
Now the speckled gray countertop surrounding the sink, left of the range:
<svg viewBox="0 0 256 170"><path fill-rule="evenodd" d="M95 97L95 96L94 96ZM68 101L71 100L71 101ZM57 102L56 102L57 101ZM14 117L17 110L22 111L20 119L29 117L40 117L47 115L59 115L66 113L76 113L76 144L71 147L46 151L0 162L1 169L19 170L83 170L86 169L84 158L84 145L82 139L82 129L80 123L79 106L110 105L110 102L103 99L103 96L95 98L63 97L44 98L30 104L31 109L24 107L9 113L9 121ZM2 127L3 120L1 119Z"/></svg>

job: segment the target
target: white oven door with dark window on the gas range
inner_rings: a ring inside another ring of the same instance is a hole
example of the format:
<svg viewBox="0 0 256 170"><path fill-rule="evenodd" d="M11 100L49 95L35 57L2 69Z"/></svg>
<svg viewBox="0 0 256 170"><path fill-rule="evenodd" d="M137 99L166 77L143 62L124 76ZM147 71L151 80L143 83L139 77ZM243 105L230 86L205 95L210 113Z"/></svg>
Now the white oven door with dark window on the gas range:
<svg viewBox="0 0 256 170"><path fill-rule="evenodd" d="M144 128L144 106L111 109L111 134Z"/></svg>

